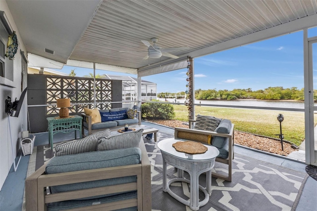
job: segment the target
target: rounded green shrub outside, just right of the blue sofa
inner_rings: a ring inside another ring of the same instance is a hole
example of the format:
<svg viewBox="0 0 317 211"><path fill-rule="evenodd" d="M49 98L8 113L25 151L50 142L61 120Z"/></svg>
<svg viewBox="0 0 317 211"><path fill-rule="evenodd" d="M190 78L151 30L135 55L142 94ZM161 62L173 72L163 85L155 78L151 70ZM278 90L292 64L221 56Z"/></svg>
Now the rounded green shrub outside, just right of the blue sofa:
<svg viewBox="0 0 317 211"><path fill-rule="evenodd" d="M175 117L174 107L170 104L144 103L142 117L152 119L172 119Z"/></svg>

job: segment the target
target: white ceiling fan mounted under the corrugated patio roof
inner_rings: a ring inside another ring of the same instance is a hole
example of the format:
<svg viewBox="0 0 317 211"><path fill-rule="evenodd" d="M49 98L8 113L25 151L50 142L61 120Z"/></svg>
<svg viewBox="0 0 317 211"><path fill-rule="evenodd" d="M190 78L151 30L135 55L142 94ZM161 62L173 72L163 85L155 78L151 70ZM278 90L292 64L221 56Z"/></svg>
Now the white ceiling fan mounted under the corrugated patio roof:
<svg viewBox="0 0 317 211"><path fill-rule="evenodd" d="M153 42L153 45L151 45L148 41L146 40L141 40L141 42L148 47L148 51L138 51L138 52L148 52L148 55L146 55L143 59L148 59L148 58L160 58L161 56L167 56L171 58L179 58L176 55L167 53L167 52L172 52L172 51L178 51L178 50L183 50L183 49L189 49L188 46L182 46L182 47L174 47L174 48L161 48L157 45L157 42L159 41L158 38L151 38L151 41ZM134 52L127 52L127 51L119 51L122 53L134 53Z"/></svg>

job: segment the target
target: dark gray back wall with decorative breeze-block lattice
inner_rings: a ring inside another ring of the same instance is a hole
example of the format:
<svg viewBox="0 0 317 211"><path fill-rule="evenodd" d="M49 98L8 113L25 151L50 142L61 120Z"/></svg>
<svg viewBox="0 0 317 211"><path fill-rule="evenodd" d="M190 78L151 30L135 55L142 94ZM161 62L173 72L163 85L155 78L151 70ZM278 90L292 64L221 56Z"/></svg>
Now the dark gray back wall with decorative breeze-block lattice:
<svg viewBox="0 0 317 211"><path fill-rule="evenodd" d="M122 107L122 81L96 79L96 107L109 109ZM94 79L85 77L53 76L45 74L28 74L28 105L31 133L48 131L47 117L58 115L56 100L69 98L70 115L80 115L84 107L92 108L94 103ZM43 106L52 105L52 106Z"/></svg>

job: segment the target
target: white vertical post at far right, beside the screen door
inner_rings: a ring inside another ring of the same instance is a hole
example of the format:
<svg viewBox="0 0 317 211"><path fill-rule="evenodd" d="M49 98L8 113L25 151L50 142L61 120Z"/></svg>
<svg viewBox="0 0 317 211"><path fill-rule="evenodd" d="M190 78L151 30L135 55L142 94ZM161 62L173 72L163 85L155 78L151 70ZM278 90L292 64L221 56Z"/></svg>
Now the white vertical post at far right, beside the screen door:
<svg viewBox="0 0 317 211"><path fill-rule="evenodd" d="M308 30L303 30L304 44L304 104L305 104L305 161L307 164L314 162L314 116L311 114L311 96L313 95L313 77L309 71L309 53L308 53ZM314 112L314 110L313 110ZM314 114L313 114L314 115Z"/></svg>

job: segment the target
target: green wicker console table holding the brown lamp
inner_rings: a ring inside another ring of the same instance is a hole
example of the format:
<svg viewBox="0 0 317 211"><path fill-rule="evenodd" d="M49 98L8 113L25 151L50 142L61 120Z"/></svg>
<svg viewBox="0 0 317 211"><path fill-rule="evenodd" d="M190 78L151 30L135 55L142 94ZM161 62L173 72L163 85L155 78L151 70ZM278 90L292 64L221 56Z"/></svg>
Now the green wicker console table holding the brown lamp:
<svg viewBox="0 0 317 211"><path fill-rule="evenodd" d="M59 116L52 116L46 118L49 122L49 144L53 150L53 135L56 133L69 133L76 130L79 131L79 137L81 138L81 120L83 117L78 115L70 115L67 118L59 118Z"/></svg>

